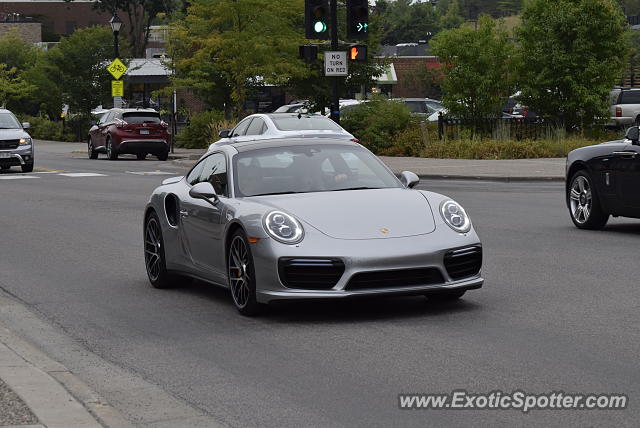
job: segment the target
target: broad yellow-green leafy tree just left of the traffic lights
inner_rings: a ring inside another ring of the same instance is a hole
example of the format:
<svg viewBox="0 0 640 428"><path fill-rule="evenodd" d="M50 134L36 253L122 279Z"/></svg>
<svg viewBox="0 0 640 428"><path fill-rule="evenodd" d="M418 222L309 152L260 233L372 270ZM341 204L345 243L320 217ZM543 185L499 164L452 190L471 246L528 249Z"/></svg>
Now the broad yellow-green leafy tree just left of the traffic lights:
<svg viewBox="0 0 640 428"><path fill-rule="evenodd" d="M303 8L301 0L194 0L170 30L174 84L239 115L252 89L307 74L298 59Z"/></svg>

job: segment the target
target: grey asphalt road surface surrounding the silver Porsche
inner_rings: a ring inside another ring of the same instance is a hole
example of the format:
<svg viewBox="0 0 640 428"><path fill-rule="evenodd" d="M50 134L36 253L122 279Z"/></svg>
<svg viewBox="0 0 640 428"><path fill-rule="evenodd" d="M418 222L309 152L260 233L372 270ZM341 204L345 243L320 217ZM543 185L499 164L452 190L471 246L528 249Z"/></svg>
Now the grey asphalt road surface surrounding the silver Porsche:
<svg viewBox="0 0 640 428"><path fill-rule="evenodd" d="M248 319L224 290L147 283L142 209L164 177L132 172L184 171L155 160L90 161L71 153L78 148L41 145L36 167L102 175L0 174L0 286L83 352L223 424L637 426L637 220L577 230L559 183L422 183L470 213L485 249L482 289L453 304L288 304ZM82 355L41 345L82 375ZM86 381L122 402L119 391ZM528 414L398 409L399 393L457 389L625 393L630 404Z"/></svg>

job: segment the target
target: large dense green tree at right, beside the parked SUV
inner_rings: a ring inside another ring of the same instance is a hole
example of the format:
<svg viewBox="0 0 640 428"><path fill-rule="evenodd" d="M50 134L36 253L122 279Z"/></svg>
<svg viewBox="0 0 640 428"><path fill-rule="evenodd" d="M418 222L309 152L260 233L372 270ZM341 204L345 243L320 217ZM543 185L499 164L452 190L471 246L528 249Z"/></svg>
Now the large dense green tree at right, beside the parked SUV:
<svg viewBox="0 0 640 428"><path fill-rule="evenodd" d="M525 105L568 130L606 116L629 49L615 0L531 0L517 37Z"/></svg>

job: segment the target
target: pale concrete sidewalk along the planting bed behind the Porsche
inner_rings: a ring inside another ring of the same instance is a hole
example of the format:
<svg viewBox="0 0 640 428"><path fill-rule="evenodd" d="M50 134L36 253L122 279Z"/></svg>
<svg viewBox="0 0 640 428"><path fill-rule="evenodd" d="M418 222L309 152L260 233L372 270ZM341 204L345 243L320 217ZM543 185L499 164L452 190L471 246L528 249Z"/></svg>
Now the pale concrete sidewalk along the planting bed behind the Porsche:
<svg viewBox="0 0 640 428"><path fill-rule="evenodd" d="M175 165L190 167L206 151L176 148L170 155ZM472 160L408 157L380 157L395 174L412 171L421 178L499 180L499 181L564 181L565 158Z"/></svg>

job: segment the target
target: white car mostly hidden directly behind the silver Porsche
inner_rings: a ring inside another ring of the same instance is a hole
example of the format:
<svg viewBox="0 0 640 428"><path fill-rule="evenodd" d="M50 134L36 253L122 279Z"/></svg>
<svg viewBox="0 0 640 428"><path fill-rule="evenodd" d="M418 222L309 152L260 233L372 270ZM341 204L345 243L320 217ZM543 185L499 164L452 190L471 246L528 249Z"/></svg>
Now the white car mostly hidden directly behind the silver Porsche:
<svg viewBox="0 0 640 428"><path fill-rule="evenodd" d="M213 143L209 149L222 144L287 137L341 138L357 141L340 125L322 115L259 113L246 117L232 130L221 131L220 140Z"/></svg>

